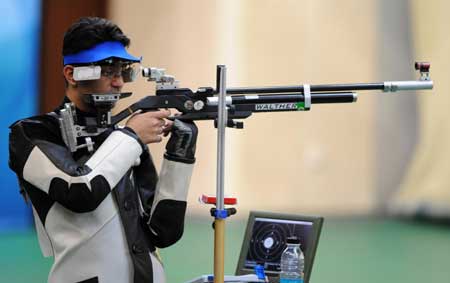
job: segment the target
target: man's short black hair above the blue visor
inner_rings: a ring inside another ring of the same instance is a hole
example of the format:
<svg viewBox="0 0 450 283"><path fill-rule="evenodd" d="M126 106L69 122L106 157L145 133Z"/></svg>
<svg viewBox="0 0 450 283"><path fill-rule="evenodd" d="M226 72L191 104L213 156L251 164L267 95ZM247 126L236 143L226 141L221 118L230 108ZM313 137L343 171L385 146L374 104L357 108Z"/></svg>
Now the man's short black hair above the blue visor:
<svg viewBox="0 0 450 283"><path fill-rule="evenodd" d="M130 39L113 22L98 17L83 17L69 27L64 34L63 56L76 54L105 41L119 41L125 47Z"/></svg>

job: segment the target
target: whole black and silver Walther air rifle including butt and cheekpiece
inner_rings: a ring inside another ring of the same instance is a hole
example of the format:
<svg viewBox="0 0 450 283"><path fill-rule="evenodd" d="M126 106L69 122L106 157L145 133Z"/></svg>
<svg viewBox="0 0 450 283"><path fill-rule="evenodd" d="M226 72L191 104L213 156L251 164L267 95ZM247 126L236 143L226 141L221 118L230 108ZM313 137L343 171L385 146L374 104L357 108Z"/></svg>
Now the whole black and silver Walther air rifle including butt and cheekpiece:
<svg viewBox="0 0 450 283"><path fill-rule="evenodd" d="M381 83L322 84L271 87L242 87L226 89L227 127L242 129L244 124L236 119L245 119L253 113L308 111L312 104L352 103L357 100L356 91L380 90L397 92L405 90L432 89L430 63L416 62L415 69L420 72L418 80L386 81ZM218 76L219 72L217 72ZM64 140L72 152L82 147L91 150L91 136L103 132L136 111L155 111L161 108L173 108L180 114L170 119L213 120L217 125L218 89L201 87L195 92L188 88L179 88L179 82L173 76L166 75L164 69L142 68L142 75L148 81L156 82L156 95L149 95L112 116L115 103L131 93L88 94L86 102L98 110L97 119L90 125L76 125L73 105L65 105L61 111L60 126ZM86 144L78 145L77 137L85 137Z"/></svg>

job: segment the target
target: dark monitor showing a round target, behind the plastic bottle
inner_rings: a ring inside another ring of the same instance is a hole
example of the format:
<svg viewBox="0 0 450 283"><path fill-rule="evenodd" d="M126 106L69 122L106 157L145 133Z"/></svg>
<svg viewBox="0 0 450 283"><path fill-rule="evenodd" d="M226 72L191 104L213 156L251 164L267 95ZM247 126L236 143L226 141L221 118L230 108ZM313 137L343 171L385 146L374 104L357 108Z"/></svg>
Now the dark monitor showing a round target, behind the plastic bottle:
<svg viewBox="0 0 450 283"><path fill-rule="evenodd" d="M255 266L262 265L269 282L279 282L286 238L297 236L305 256L304 283L309 283L322 224L323 217L251 211L236 275L254 273Z"/></svg>

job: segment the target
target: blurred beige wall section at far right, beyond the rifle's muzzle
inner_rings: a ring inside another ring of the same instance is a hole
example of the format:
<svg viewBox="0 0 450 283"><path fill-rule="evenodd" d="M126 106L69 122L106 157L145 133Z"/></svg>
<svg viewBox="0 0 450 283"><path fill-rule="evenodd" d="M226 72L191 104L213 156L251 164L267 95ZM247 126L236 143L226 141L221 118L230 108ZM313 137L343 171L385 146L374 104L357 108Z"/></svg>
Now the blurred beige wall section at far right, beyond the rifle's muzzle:
<svg viewBox="0 0 450 283"><path fill-rule="evenodd" d="M400 189L389 203L392 213L450 218L450 19L448 1L411 1L416 55L432 62L433 95L418 99L420 138Z"/></svg>

